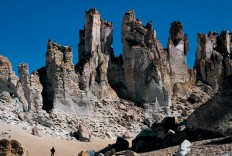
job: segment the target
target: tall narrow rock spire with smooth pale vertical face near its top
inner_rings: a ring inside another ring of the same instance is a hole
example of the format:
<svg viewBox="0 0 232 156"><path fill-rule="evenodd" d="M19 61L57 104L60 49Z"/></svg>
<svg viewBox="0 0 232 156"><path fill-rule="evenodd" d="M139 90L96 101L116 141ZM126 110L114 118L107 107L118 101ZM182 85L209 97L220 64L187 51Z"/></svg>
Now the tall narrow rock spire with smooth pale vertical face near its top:
<svg viewBox="0 0 232 156"><path fill-rule="evenodd" d="M95 8L86 11L85 28L80 30L79 62L75 69L79 74L79 87L88 98L118 99L107 78L112 31L112 23L103 21Z"/></svg>

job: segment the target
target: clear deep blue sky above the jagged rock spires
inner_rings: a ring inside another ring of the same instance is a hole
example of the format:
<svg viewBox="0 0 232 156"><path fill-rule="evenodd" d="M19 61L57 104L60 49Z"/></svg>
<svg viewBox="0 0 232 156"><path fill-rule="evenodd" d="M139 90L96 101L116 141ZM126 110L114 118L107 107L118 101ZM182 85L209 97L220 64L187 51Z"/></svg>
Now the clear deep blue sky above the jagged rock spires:
<svg viewBox="0 0 232 156"><path fill-rule="evenodd" d="M113 48L119 55L123 15L133 9L144 25L153 21L164 48L170 23L181 21L190 43L187 63L192 67L198 32L232 31L231 6L231 0L0 0L0 55L10 59L14 71L26 62L32 72L45 65L47 41L52 39L72 46L76 64L78 31L91 7L97 8L102 19L113 22Z"/></svg>

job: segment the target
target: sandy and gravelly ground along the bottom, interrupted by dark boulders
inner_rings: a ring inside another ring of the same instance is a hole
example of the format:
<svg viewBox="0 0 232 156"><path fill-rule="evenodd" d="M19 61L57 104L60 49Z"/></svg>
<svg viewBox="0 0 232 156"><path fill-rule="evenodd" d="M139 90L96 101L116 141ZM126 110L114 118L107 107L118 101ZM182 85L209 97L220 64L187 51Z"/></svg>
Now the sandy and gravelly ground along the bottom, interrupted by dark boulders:
<svg viewBox="0 0 232 156"><path fill-rule="evenodd" d="M8 133L2 135L3 133ZM95 150L99 151L109 144L113 144L116 140L92 139L91 142L66 141L57 139L43 134L37 137L29 134L19 127L0 122L0 139L18 140L23 147L29 152L30 156L50 156L50 149L55 147L55 156L77 156L80 151ZM129 140L131 146L131 140ZM141 153L142 156L173 156L178 146L165 149ZM192 142L191 151L188 156L221 156L225 153L232 155L232 140L229 138L218 138Z"/></svg>

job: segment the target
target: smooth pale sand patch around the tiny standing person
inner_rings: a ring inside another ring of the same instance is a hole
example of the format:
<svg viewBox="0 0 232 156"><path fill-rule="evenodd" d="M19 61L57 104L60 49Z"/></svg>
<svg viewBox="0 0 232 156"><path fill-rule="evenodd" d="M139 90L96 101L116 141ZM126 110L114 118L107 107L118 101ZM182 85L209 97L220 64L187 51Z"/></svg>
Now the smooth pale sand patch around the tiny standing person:
<svg viewBox="0 0 232 156"><path fill-rule="evenodd" d="M5 136L2 135L7 132ZM92 139L91 142L66 141L51 136L42 135L37 137L27 133L19 127L14 127L7 123L0 122L0 139L19 141L31 156L50 156L50 149L55 147L55 156L77 156L80 151L98 151L113 144L116 140Z"/></svg>

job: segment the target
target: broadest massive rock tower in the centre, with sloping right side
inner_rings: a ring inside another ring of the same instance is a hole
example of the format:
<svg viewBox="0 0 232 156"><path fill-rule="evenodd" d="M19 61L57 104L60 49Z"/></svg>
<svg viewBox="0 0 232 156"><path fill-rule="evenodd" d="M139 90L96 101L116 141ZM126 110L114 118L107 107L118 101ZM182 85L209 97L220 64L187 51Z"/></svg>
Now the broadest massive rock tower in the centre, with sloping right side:
<svg viewBox="0 0 232 156"><path fill-rule="evenodd" d="M169 106L171 97L167 52L152 29L129 10L122 24L123 67L127 97L137 103Z"/></svg>

